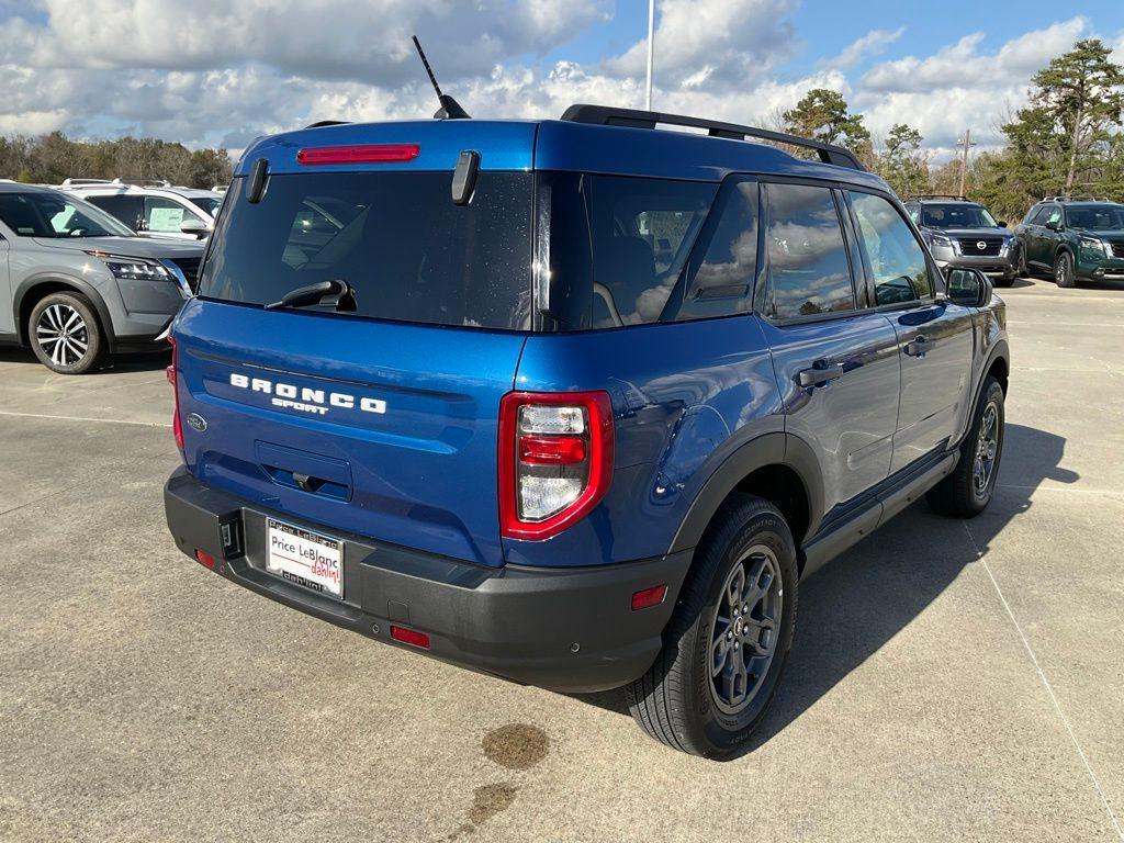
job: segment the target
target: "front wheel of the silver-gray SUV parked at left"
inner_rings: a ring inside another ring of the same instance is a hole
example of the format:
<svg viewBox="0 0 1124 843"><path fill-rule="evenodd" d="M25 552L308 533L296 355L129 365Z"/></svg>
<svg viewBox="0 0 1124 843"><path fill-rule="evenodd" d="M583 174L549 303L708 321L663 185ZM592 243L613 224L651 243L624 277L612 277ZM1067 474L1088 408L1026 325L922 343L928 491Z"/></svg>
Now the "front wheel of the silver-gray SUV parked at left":
<svg viewBox="0 0 1124 843"><path fill-rule="evenodd" d="M93 305L78 292L53 292L40 299L27 320L27 338L39 362L60 374L85 374L106 355Z"/></svg>

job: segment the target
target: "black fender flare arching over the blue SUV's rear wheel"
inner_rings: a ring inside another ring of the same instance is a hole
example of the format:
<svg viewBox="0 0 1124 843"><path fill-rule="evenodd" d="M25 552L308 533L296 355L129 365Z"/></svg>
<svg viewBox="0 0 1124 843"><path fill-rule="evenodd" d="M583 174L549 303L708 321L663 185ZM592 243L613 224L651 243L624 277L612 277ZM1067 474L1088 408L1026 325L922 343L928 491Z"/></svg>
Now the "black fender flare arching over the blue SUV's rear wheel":
<svg viewBox="0 0 1124 843"><path fill-rule="evenodd" d="M767 433L750 439L727 456L695 496L690 509L679 525L669 553L695 547L718 507L737 484L758 469L783 465L804 484L808 500L808 529L804 536L794 536L797 547L814 535L824 516L824 483L812 447L803 439L787 433Z"/></svg>

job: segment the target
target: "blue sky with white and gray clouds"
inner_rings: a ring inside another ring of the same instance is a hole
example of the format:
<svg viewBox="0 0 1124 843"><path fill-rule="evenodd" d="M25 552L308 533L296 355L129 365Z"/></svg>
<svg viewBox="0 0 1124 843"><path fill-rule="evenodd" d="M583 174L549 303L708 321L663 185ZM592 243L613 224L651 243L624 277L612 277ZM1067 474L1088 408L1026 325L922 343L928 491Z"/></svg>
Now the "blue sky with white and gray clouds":
<svg viewBox="0 0 1124 843"><path fill-rule="evenodd" d="M841 9L845 9L842 12ZM0 0L0 134L154 135L239 149L317 119L643 107L645 0ZM1124 1L658 0L654 107L760 121L842 91L876 137L996 142L1030 78L1080 37L1124 62Z"/></svg>

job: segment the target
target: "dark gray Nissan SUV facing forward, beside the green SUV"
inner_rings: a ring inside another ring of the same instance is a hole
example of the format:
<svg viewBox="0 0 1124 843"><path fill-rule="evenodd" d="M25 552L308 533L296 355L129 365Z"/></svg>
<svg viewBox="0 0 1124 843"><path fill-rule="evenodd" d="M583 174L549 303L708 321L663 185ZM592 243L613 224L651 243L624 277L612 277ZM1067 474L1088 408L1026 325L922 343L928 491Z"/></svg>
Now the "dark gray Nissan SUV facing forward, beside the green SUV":
<svg viewBox="0 0 1124 843"><path fill-rule="evenodd" d="M937 265L979 270L996 287L1018 277L1021 244L988 209L962 196L923 196L905 203Z"/></svg>

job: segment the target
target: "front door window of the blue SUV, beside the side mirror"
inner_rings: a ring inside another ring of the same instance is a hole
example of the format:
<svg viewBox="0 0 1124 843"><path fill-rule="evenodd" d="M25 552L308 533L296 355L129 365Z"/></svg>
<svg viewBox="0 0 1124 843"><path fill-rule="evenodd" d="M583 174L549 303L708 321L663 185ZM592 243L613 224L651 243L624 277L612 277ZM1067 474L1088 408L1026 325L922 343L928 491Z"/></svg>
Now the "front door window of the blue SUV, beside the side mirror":
<svg viewBox="0 0 1124 843"><path fill-rule="evenodd" d="M878 305L896 305L933 296L925 251L897 209L873 193L849 192L859 223L859 239L874 279Z"/></svg>

